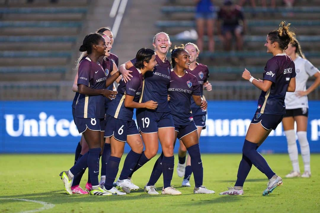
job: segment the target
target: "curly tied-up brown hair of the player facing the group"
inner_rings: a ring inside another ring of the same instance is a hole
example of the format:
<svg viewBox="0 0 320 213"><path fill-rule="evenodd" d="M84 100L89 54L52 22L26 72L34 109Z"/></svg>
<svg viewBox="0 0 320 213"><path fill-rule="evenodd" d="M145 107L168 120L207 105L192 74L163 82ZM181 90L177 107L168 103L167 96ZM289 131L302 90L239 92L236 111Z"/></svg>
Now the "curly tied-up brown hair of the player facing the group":
<svg viewBox="0 0 320 213"><path fill-rule="evenodd" d="M288 48L289 43L293 43L295 33L289 30L290 24L285 24L281 21L278 30L273 30L268 33L271 43L278 42L279 49L285 50Z"/></svg>

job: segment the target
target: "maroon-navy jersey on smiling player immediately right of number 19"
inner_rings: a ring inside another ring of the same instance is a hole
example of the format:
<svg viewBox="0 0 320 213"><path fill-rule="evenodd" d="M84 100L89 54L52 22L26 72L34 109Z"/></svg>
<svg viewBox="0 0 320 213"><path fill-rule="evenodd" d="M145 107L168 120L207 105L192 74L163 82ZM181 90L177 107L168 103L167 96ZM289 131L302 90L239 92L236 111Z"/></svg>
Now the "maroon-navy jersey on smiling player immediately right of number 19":
<svg viewBox="0 0 320 213"><path fill-rule="evenodd" d="M178 77L174 71L171 71L168 93L174 125L187 125L190 121L193 121L190 99L192 95L201 95L196 76L186 72L184 76Z"/></svg>

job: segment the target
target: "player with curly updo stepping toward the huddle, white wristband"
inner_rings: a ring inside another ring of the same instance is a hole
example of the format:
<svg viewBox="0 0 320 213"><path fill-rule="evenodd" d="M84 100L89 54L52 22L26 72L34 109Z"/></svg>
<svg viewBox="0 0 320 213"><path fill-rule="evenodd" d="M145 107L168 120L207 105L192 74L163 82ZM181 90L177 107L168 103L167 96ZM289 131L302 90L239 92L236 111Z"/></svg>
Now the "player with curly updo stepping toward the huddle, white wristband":
<svg viewBox="0 0 320 213"><path fill-rule="evenodd" d="M295 91L295 65L292 59L284 53L289 43L293 41L294 36L294 33L289 30L289 25L285 25L282 21L278 30L271 31L267 35L264 46L267 47L267 52L271 53L273 57L268 60L264 68L263 80L252 77L247 69L244 69L242 73L245 80L249 80L262 91L257 110L245 136L236 184L234 187L229 187L229 190L221 192L220 195L244 194L243 184L252 164L269 179L267 188L262 195L271 193L282 184L282 179L271 170L267 161L257 149L284 117L286 92Z"/></svg>

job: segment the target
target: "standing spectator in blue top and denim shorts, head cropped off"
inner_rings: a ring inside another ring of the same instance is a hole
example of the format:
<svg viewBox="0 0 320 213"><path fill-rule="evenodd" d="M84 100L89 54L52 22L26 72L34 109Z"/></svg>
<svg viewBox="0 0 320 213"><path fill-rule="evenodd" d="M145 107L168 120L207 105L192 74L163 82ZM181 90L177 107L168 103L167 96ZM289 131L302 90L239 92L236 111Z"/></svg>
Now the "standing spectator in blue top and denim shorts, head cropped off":
<svg viewBox="0 0 320 213"><path fill-rule="evenodd" d="M217 18L214 6L211 0L194 0L196 2L196 25L198 40L197 45L199 49L203 50L203 36L206 29L208 34L208 47L209 51L214 51L214 38L213 30L214 23Z"/></svg>

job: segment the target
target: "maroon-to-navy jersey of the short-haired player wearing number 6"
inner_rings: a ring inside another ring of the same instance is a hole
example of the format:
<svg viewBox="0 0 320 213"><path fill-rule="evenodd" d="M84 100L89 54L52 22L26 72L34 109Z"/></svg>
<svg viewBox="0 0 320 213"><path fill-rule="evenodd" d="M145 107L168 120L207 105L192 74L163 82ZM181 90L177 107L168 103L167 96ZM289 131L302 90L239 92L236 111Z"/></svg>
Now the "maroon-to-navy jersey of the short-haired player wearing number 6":
<svg viewBox="0 0 320 213"><path fill-rule="evenodd" d="M118 94L116 99L113 100L108 107L107 114L118 119L132 121L133 108L128 108L124 106L125 95L134 96L133 101L139 102L139 98L142 92L142 82L143 76L140 70L135 67L131 67L129 70L132 72L131 80L124 83L123 79L120 81L117 88Z"/></svg>

